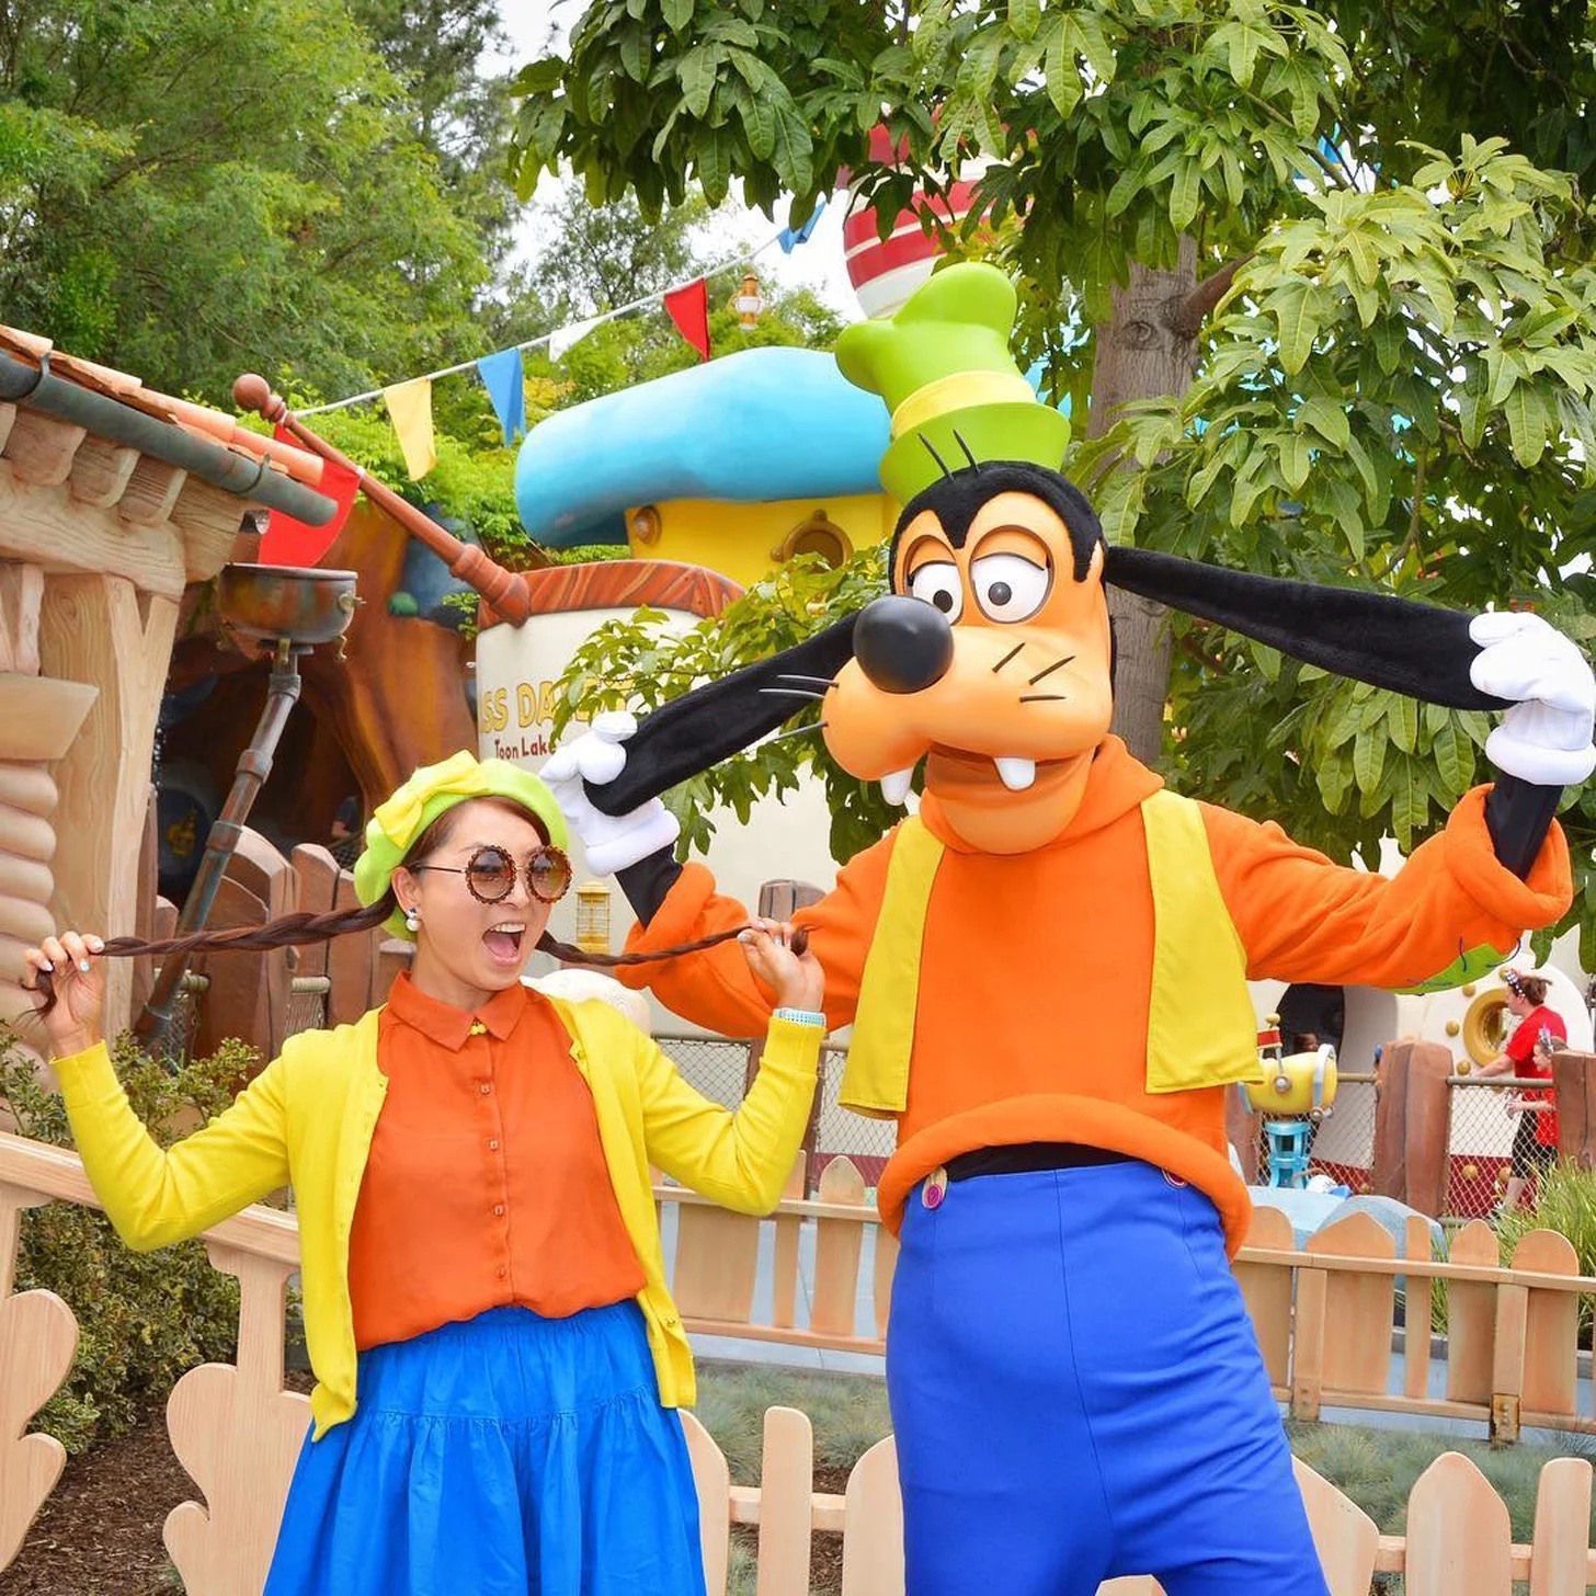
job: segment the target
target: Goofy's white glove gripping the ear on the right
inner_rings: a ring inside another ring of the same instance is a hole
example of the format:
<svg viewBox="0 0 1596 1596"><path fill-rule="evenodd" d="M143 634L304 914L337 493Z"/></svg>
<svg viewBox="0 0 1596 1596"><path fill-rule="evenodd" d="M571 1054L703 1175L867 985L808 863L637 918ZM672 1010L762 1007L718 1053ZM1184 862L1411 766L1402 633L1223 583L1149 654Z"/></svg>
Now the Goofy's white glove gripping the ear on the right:
<svg viewBox="0 0 1596 1596"><path fill-rule="evenodd" d="M1486 758L1537 787L1577 787L1596 769L1596 678L1585 654L1519 610L1476 614L1468 635L1479 645L1468 678L1515 701L1486 739Z"/></svg>

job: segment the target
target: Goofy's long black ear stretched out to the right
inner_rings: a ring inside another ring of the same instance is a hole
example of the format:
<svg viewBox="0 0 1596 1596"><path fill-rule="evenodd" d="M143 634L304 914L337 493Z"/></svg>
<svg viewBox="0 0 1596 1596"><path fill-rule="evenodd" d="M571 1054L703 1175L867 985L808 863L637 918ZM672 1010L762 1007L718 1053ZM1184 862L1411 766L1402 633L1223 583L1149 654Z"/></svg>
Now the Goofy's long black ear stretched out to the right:
<svg viewBox="0 0 1596 1596"><path fill-rule="evenodd" d="M1103 581L1278 648L1337 677L1448 709L1507 709L1468 680L1472 614L1436 605L1227 571L1148 549L1104 551Z"/></svg>

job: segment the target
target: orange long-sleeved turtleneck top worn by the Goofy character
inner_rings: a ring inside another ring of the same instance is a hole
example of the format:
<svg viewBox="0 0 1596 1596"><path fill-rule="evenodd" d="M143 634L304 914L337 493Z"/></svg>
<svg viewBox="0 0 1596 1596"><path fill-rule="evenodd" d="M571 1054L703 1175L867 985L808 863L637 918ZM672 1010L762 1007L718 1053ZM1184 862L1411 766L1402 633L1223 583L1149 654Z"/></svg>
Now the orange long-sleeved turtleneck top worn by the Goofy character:
<svg viewBox="0 0 1596 1596"><path fill-rule="evenodd" d="M1199 1186L1232 1248L1240 1245L1248 1200L1226 1154L1224 1088L1146 1092L1154 922L1140 804L1159 785L1106 737L1065 832L1013 855L972 849L934 798L922 801L921 819L946 852L926 911L908 1104L879 1183L889 1227L911 1186L959 1152L1082 1141ZM1484 793L1468 793L1393 879L1333 865L1278 825L1203 804L1248 977L1406 986L1464 950L1507 950L1519 930L1553 924L1572 894L1561 830L1553 827L1529 881L1519 881L1491 849ZM849 860L836 887L795 916L825 966L833 1026L854 1018L895 836ZM715 895L709 871L688 865L627 951L688 942L741 918L745 910ZM757 1034L771 1009L734 943L618 974L731 1036Z"/></svg>

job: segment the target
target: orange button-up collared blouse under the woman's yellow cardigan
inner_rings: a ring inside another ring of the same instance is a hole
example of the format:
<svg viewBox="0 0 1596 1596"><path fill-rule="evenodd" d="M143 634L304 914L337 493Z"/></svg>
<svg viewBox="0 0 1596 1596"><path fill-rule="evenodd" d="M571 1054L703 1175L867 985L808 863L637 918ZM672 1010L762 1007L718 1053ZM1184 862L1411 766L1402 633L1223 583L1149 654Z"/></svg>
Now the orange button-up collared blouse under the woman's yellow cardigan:
<svg viewBox="0 0 1596 1596"><path fill-rule="evenodd" d="M552 1004L516 985L471 1015L402 974L377 1063L388 1096L350 1232L358 1347L511 1302L565 1318L637 1296L643 1267Z"/></svg>

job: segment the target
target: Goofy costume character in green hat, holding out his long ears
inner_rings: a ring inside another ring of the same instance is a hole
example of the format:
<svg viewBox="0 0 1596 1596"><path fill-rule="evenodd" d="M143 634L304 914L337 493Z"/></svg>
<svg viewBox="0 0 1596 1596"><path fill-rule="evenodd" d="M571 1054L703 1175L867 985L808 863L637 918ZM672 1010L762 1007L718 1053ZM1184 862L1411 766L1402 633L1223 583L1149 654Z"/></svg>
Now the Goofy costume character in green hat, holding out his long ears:
<svg viewBox="0 0 1596 1596"><path fill-rule="evenodd" d="M796 916L828 1021L854 1026L841 1101L899 1127L879 1205L902 1242L910 1596L1090 1596L1127 1574L1323 1596L1227 1264L1250 1213L1224 1136L1226 1087L1258 1069L1246 982L1451 985L1553 924L1570 875L1551 809L1596 763L1596 689L1532 616L1106 547L1057 471L1069 423L1009 356L1013 308L1001 273L959 265L843 335L843 372L892 409L891 597L635 736L600 717L544 776L645 951L745 921L659 847L654 795L772 729L776 694L811 683L832 757L894 801L924 760L919 812ZM1109 734L1104 583L1438 702L1523 701L1487 749L1515 776L1393 879L1179 798ZM733 1036L772 1007L736 950L637 978Z"/></svg>

